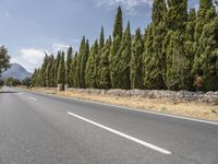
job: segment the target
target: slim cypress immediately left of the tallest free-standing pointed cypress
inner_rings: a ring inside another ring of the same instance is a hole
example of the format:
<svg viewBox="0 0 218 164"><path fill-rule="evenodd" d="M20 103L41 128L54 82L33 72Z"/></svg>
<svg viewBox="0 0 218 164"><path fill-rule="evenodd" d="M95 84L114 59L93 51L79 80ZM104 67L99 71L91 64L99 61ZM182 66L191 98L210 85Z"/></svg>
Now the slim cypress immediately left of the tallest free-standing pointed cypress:
<svg viewBox="0 0 218 164"><path fill-rule="evenodd" d="M109 55L110 55L110 47L111 47L111 36L106 42L105 47L101 50L100 56L100 77L99 77L99 87L100 89L110 89L110 69L109 69Z"/></svg>

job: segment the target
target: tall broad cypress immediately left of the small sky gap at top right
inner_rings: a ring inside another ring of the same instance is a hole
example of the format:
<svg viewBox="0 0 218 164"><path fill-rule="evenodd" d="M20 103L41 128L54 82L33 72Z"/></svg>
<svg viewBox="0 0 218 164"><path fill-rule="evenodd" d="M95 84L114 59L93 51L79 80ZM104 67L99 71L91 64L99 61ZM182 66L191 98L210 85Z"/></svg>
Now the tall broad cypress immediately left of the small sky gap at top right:
<svg viewBox="0 0 218 164"><path fill-rule="evenodd" d="M166 84L169 90L186 89L183 65L189 60L184 54L185 23L187 21L187 0L170 0L165 38Z"/></svg>

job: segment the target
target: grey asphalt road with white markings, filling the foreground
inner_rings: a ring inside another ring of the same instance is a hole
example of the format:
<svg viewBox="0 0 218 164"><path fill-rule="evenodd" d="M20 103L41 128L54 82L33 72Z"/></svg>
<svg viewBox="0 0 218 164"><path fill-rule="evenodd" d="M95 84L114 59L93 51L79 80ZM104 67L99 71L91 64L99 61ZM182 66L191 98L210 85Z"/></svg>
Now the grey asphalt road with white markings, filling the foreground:
<svg viewBox="0 0 218 164"><path fill-rule="evenodd" d="M218 122L3 87L0 164L218 164Z"/></svg>

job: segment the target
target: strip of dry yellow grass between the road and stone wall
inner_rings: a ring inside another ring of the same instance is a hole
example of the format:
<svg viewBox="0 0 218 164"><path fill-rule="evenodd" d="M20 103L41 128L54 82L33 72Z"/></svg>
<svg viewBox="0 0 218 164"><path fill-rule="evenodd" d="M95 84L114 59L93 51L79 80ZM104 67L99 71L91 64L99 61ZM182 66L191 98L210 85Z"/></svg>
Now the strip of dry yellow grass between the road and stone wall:
<svg viewBox="0 0 218 164"><path fill-rule="evenodd" d="M32 89L34 91L45 92L48 94L58 94L63 96L76 97L80 99L95 101L113 105L122 105L142 110L153 110L192 118L207 120L218 120L218 105L208 105L201 103L180 103L168 99L154 99L142 97L120 97L110 95L88 94L75 91L58 92L51 89Z"/></svg>

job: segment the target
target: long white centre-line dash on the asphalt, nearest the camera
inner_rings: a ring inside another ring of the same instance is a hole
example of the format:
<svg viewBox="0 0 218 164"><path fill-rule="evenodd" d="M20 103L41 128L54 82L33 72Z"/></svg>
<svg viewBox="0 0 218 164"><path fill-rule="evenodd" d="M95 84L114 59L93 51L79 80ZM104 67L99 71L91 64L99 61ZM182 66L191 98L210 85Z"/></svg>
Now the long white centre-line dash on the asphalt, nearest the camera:
<svg viewBox="0 0 218 164"><path fill-rule="evenodd" d="M162 154L166 154L166 155L170 155L170 154L171 154L171 152L169 152L169 151L167 151L167 150L165 150L165 149L161 149L161 148L156 147L156 145L154 145L154 144L150 144L150 143L148 143L148 142L142 141L142 140L137 139L137 138L131 137L131 136L125 134L125 133L123 133L123 132L117 131L117 130L114 130L114 129L112 129L112 128L106 127L106 126L104 126L104 125L100 125L100 124L95 122L95 121L93 121L93 120L86 119L86 118L81 117L81 116L78 116L78 115L75 115L75 114L73 114L73 113L68 113L68 114L71 115L71 116L73 116L73 117L76 117L76 118L78 118L78 119L81 119L81 120L84 120L84 121L86 121L86 122L89 122L89 124L92 124L92 125L94 125L94 126L96 126L96 127L99 127L99 128L101 128L101 129L105 129L105 130L107 130L107 131L110 131L110 132L112 132L112 133L116 133L116 134L118 134L118 136L120 136L120 137L123 137L123 138L125 138L125 139L129 139L129 140L131 140L131 141L133 141L133 142L136 142L136 143L138 143L138 144L144 145L144 147L147 147L147 148L149 148L149 149L152 149L152 150L155 150L155 151L157 151L157 152L159 152L159 153L162 153Z"/></svg>

